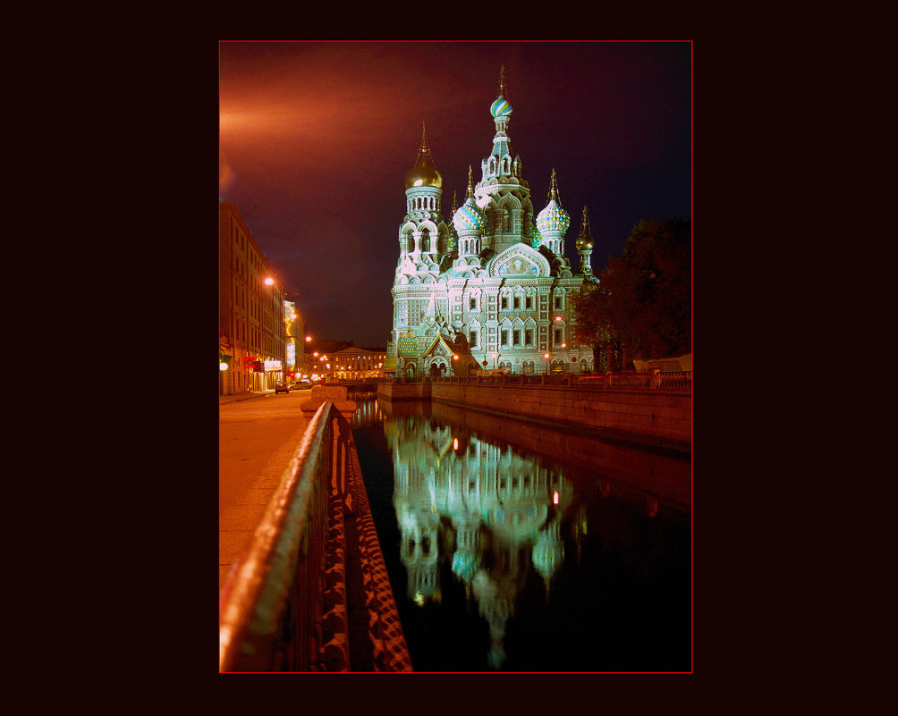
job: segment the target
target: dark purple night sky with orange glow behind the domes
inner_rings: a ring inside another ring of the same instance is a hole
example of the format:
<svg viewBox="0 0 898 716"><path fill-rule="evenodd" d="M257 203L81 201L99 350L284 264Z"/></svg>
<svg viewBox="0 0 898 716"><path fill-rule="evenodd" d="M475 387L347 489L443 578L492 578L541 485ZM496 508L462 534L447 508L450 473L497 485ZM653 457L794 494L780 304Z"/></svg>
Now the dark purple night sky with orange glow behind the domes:
<svg viewBox="0 0 898 716"><path fill-rule="evenodd" d="M219 197L236 205L316 338L386 345L422 123L442 214L507 128L536 214L556 170L598 274L640 219L691 219L691 42L232 42L220 48Z"/></svg>

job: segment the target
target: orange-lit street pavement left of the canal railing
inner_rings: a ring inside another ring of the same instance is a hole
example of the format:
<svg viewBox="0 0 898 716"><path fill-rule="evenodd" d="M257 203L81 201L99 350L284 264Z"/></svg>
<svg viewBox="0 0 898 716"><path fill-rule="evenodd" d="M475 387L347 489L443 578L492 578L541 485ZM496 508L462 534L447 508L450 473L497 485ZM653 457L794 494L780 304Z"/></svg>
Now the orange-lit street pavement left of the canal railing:
<svg viewBox="0 0 898 716"><path fill-rule="evenodd" d="M218 589L245 549L309 421L295 390L219 406Z"/></svg>

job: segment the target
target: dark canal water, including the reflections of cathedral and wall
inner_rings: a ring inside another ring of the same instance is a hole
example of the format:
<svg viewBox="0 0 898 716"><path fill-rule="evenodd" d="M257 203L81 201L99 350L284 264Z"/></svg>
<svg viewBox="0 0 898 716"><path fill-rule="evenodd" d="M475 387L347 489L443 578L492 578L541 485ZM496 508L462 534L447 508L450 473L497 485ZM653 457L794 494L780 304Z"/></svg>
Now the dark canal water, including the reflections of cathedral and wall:
<svg viewBox="0 0 898 716"><path fill-rule="evenodd" d="M354 399L416 671L691 670L688 459Z"/></svg>

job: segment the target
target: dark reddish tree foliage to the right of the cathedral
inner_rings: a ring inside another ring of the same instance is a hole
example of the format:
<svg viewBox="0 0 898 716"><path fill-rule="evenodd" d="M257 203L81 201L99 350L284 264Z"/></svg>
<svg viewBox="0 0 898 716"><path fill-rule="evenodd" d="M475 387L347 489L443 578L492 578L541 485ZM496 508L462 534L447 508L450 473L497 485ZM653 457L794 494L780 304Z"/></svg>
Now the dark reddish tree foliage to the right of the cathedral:
<svg viewBox="0 0 898 716"><path fill-rule="evenodd" d="M599 283L575 297L577 339L629 345L641 360L689 353L691 280L690 223L639 222Z"/></svg>

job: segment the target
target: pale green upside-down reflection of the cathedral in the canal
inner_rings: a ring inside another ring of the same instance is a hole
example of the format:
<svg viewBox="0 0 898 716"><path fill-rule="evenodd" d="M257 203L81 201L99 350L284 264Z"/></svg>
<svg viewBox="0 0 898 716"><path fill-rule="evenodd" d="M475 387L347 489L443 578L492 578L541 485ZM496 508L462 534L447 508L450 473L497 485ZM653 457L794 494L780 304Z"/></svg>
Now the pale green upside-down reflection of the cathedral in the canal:
<svg viewBox="0 0 898 716"><path fill-rule="evenodd" d="M490 663L500 666L529 570L548 595L564 560L559 529L572 487L533 458L421 415L396 416L386 432L409 599L439 601L440 564L449 560L489 624Z"/></svg>

